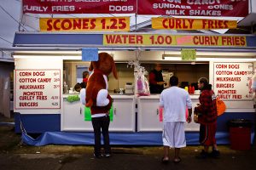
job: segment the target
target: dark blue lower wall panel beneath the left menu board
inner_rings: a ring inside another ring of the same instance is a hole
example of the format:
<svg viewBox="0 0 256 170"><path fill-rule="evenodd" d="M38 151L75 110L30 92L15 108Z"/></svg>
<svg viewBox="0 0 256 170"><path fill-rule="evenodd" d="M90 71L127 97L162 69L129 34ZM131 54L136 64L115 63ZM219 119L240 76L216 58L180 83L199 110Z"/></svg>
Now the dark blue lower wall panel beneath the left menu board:
<svg viewBox="0 0 256 170"><path fill-rule="evenodd" d="M15 113L15 133L20 133L20 119L26 133L61 131L61 114L20 114Z"/></svg>

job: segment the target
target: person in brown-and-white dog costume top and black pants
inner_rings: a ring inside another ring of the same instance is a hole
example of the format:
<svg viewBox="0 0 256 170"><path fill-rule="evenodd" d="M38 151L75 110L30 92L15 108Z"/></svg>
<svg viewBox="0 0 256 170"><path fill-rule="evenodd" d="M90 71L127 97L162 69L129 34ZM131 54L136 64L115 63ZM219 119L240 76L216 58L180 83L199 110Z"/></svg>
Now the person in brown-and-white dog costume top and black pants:
<svg viewBox="0 0 256 170"><path fill-rule="evenodd" d="M95 146L94 156L111 156L109 144L108 127L110 118L108 116L112 105L112 98L108 94L108 75L113 72L117 79L117 71L113 58L108 53L100 53L98 61L90 63L89 71L93 71L87 81L86 89L81 91L82 103L90 107L91 122L94 130ZM86 96L86 97L85 97ZM101 152L101 132L104 141L104 155Z"/></svg>

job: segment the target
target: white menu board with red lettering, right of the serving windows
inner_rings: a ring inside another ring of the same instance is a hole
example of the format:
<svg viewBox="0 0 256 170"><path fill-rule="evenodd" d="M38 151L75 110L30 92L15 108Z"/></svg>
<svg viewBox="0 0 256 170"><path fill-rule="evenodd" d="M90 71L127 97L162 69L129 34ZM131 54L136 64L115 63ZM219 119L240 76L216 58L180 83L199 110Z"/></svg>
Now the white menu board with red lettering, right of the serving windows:
<svg viewBox="0 0 256 170"><path fill-rule="evenodd" d="M219 99L253 99L249 81L253 77L253 63L214 63L214 92Z"/></svg>

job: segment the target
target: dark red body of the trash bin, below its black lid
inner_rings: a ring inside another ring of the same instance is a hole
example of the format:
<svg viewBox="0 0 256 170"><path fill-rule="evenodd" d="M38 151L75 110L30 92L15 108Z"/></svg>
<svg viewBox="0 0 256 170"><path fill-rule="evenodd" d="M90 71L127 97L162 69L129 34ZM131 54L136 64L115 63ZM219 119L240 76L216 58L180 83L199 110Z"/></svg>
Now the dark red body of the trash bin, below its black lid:
<svg viewBox="0 0 256 170"><path fill-rule="evenodd" d="M232 150L250 150L251 127L230 127L230 145Z"/></svg>

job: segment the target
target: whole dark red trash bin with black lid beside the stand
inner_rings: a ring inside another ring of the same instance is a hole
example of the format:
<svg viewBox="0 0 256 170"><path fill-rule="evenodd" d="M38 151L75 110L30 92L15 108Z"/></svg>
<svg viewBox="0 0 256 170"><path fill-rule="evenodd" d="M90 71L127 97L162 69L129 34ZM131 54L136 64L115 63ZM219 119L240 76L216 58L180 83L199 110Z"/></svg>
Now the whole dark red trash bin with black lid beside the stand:
<svg viewBox="0 0 256 170"><path fill-rule="evenodd" d="M251 149L251 127L253 122L246 119L233 119L228 122L230 127L230 146L232 150Z"/></svg>

